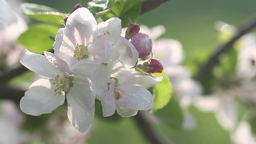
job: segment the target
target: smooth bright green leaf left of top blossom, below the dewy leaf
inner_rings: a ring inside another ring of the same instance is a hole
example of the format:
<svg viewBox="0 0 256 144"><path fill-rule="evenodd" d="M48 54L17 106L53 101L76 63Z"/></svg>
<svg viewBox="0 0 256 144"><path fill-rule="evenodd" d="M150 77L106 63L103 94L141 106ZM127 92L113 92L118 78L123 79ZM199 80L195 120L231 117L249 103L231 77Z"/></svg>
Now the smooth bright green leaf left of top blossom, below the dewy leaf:
<svg viewBox="0 0 256 144"><path fill-rule="evenodd" d="M39 24L30 27L20 35L18 42L28 50L42 54L45 50L51 50L54 41L49 36L56 36L59 27L46 24Z"/></svg>

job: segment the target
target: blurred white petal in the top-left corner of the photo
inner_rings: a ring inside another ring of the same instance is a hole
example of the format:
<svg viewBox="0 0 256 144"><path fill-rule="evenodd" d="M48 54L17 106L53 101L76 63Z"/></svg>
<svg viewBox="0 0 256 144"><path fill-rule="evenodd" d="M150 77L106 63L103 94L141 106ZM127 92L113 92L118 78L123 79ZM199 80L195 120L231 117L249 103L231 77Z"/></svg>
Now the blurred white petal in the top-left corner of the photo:
<svg viewBox="0 0 256 144"><path fill-rule="evenodd" d="M0 30L14 22L17 22L17 18L11 7L5 0L0 0Z"/></svg>

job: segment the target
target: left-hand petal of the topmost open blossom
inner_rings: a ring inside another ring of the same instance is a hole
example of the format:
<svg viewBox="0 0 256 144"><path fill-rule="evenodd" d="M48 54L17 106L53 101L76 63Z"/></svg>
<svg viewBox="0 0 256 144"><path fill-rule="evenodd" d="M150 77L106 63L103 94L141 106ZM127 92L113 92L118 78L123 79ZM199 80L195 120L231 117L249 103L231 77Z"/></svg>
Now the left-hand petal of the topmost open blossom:
<svg viewBox="0 0 256 144"><path fill-rule="evenodd" d="M54 54L68 60L74 56L77 40L68 28L60 28L54 42Z"/></svg>

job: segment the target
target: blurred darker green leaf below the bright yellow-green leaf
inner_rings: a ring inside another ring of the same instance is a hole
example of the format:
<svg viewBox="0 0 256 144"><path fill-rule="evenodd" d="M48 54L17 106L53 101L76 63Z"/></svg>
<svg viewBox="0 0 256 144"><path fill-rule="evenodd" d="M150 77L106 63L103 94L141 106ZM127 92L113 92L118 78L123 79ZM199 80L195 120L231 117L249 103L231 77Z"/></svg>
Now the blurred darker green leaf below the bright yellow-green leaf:
<svg viewBox="0 0 256 144"><path fill-rule="evenodd" d="M181 128L183 123L182 109L180 108L179 102L175 97L172 97L170 102L154 113L159 120L170 127Z"/></svg>

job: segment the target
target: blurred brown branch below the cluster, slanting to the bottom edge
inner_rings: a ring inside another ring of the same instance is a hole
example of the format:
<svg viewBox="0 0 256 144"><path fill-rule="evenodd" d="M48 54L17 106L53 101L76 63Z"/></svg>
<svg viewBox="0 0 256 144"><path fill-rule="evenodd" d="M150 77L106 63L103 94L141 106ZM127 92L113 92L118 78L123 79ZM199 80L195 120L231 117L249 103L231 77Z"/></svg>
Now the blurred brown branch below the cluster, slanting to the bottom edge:
<svg viewBox="0 0 256 144"><path fill-rule="evenodd" d="M142 131L147 140L152 144L170 144L162 138L160 134L154 130L152 123L144 116L143 111L139 111L136 116L133 117L138 128Z"/></svg>

